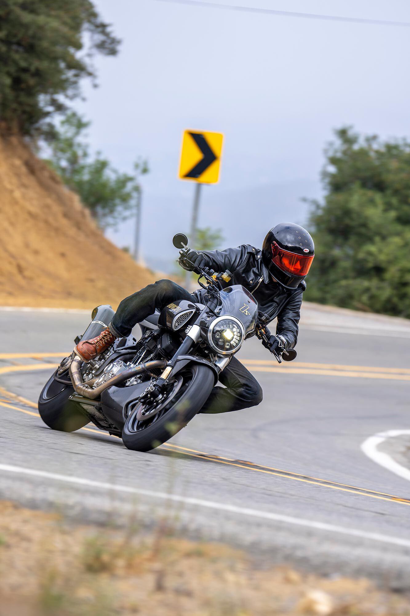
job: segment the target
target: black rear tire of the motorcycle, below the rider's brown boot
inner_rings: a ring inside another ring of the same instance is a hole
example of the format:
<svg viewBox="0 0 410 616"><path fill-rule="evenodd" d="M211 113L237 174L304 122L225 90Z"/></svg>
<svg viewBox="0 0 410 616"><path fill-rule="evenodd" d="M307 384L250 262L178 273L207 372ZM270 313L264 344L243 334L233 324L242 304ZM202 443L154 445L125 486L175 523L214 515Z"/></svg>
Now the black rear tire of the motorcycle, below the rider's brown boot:
<svg viewBox="0 0 410 616"><path fill-rule="evenodd" d="M89 423L89 418L79 410L78 404L68 400L74 393L72 385L59 383L55 380L55 374L50 376L42 388L38 400L38 410L42 421L52 430L61 432L74 432ZM68 378L68 371L61 375Z"/></svg>

